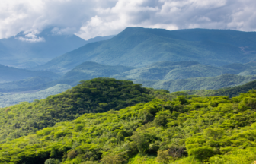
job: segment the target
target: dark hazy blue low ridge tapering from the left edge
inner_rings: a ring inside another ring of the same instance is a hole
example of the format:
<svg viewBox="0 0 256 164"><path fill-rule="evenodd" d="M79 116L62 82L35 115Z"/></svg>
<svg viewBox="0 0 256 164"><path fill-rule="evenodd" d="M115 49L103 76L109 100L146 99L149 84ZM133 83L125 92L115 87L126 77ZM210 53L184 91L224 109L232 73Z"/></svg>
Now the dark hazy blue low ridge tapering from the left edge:
<svg viewBox="0 0 256 164"><path fill-rule="evenodd" d="M30 71L21 68L12 68L0 65L0 82L9 82L14 80L23 80L29 77L47 77L56 79L60 77L59 74L50 71Z"/></svg>

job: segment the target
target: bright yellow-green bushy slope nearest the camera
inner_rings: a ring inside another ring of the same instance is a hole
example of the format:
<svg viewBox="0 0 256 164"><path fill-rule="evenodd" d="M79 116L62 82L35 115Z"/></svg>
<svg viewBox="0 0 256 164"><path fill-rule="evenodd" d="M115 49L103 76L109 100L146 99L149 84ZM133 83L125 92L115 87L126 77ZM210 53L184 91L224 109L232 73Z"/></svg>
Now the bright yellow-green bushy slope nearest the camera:
<svg viewBox="0 0 256 164"><path fill-rule="evenodd" d="M177 96L88 113L0 144L0 161L251 164L256 159L255 98L255 90L232 99Z"/></svg>

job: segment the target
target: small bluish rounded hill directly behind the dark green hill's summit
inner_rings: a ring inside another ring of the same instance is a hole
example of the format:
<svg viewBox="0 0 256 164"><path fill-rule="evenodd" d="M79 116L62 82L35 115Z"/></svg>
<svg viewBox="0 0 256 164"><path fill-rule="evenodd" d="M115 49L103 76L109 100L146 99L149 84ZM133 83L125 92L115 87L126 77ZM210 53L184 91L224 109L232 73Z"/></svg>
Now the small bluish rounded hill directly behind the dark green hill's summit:
<svg viewBox="0 0 256 164"><path fill-rule="evenodd" d="M67 72L62 79L89 80L96 77L110 77L114 74L120 74L130 71L131 67L101 65L95 62L84 62Z"/></svg>

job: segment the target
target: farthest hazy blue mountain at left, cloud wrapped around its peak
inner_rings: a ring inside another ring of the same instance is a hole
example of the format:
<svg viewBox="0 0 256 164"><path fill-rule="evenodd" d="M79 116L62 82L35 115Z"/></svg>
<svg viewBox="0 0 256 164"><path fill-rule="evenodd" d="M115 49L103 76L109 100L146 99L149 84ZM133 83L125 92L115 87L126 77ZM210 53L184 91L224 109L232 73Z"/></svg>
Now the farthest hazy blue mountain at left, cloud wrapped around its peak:
<svg viewBox="0 0 256 164"><path fill-rule="evenodd" d="M85 41L75 35L53 33L53 28L43 30L34 36L29 35L33 35L33 33L21 32L8 39L0 39L0 63L2 65L18 68L34 67L87 43L113 37L98 36Z"/></svg>

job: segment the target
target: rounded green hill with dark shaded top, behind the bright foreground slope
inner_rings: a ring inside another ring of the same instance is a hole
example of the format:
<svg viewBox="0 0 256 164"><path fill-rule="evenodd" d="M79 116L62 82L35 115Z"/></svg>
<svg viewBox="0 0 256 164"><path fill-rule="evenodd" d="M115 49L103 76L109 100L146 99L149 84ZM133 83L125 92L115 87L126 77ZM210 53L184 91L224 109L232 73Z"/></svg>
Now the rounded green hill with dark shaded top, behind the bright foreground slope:
<svg viewBox="0 0 256 164"><path fill-rule="evenodd" d="M34 134L39 129L72 121L85 113L107 112L149 102L158 95L149 94L151 92L128 80L96 78L82 81L58 95L0 109L0 142Z"/></svg>

